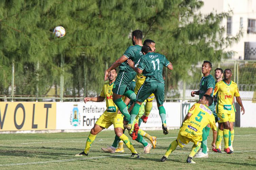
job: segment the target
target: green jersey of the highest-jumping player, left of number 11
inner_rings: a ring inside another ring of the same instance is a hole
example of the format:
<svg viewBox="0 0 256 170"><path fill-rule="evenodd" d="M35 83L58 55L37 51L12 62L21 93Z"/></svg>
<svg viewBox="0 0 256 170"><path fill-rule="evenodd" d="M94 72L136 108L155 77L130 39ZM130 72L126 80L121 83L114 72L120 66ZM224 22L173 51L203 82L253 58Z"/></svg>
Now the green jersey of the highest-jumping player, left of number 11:
<svg viewBox="0 0 256 170"><path fill-rule="evenodd" d="M138 63L138 61L141 59L141 56L143 55L141 48L142 46L139 45L130 46L126 49L124 55L128 59L131 59L134 63ZM127 62L123 62L119 68L121 71L127 71L129 73L134 72L134 70L127 64Z"/></svg>

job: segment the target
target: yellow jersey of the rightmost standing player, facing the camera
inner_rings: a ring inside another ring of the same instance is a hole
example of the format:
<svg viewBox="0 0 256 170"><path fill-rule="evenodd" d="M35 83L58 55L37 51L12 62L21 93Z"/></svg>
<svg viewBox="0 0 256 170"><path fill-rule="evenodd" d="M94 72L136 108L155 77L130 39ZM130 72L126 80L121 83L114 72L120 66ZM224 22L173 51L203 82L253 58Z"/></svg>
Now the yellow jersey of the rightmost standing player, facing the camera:
<svg viewBox="0 0 256 170"><path fill-rule="evenodd" d="M219 114L231 114L233 97L240 96L237 84L234 81L227 84L224 80L216 83L213 95L217 96L216 113Z"/></svg>

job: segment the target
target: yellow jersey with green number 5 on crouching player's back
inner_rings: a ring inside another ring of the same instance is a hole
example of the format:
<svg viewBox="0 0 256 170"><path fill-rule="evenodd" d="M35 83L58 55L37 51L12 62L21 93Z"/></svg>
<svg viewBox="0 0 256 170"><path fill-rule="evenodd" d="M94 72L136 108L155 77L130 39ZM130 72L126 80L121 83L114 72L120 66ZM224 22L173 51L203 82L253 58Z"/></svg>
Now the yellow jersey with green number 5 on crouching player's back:
<svg viewBox="0 0 256 170"><path fill-rule="evenodd" d="M183 122L180 135L190 139L200 138L203 134L203 128L208 124L211 125L212 129L217 130L215 117L206 105L195 103L188 113L191 113L192 116Z"/></svg>

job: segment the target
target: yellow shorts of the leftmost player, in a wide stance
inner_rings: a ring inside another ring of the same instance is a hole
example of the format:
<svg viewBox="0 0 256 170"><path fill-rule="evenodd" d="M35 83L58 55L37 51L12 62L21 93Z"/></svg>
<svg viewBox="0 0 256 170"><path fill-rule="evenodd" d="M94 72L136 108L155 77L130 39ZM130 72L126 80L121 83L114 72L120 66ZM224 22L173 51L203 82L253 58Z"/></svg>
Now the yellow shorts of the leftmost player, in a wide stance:
<svg viewBox="0 0 256 170"><path fill-rule="evenodd" d="M105 127L106 129L112 124L114 125L114 128L121 127L124 129L124 118L122 114L106 114L105 112L99 117L95 124Z"/></svg>

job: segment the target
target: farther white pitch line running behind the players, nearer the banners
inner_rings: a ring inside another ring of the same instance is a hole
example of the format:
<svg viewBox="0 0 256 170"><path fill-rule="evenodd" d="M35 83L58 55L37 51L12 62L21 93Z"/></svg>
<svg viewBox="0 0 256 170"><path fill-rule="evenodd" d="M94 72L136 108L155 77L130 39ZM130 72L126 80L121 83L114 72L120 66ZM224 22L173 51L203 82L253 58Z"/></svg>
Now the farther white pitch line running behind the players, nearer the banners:
<svg viewBox="0 0 256 170"><path fill-rule="evenodd" d="M237 136L251 136L251 135L256 135L256 134L245 134L245 135L235 135ZM177 137L167 137L167 138L157 138L157 140L159 139L174 139ZM148 140L148 139L146 139ZM109 140L96 140L94 141L94 143L96 142L102 142L102 141L109 141ZM12 144L0 144L0 146L8 146L8 145L26 145L26 144L35 144L35 143L70 143L70 142L76 142L76 143L85 143L85 141L44 141L44 142L28 142L28 143L12 143Z"/></svg>

